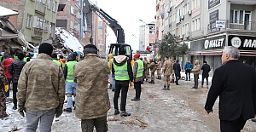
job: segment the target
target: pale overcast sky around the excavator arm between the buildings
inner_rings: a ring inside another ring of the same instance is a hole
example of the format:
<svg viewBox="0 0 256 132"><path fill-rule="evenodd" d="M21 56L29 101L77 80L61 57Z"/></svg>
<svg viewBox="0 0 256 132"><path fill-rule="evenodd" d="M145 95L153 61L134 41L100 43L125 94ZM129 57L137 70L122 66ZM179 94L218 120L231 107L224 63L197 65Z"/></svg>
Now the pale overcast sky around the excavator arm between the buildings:
<svg viewBox="0 0 256 132"><path fill-rule="evenodd" d="M92 3L97 2L97 7L103 9L113 19L119 21L119 25L125 31L125 43L131 44L131 49L136 51L138 49L139 40L139 26L144 23L154 21L155 0L90 0ZM113 31L107 29L107 45L109 43L116 43L116 37ZM134 34L137 37L133 37Z"/></svg>

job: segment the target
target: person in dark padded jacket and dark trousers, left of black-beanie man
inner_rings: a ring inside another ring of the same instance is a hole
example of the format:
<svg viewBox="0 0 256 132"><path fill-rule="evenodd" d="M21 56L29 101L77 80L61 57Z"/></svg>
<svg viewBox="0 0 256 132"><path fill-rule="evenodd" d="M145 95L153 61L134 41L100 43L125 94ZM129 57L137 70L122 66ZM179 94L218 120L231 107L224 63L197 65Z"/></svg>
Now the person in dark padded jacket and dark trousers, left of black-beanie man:
<svg viewBox="0 0 256 132"><path fill-rule="evenodd" d="M13 109L16 110L17 109L17 97L16 97L16 93L18 91L17 87L18 87L18 81L20 78L20 72L23 68L23 66L25 66L26 62L23 61L24 59L24 54L23 53L18 53L18 60L13 61L10 66L9 66L9 74L12 76L12 82L13 82L13 102L14 102L14 106Z"/></svg>

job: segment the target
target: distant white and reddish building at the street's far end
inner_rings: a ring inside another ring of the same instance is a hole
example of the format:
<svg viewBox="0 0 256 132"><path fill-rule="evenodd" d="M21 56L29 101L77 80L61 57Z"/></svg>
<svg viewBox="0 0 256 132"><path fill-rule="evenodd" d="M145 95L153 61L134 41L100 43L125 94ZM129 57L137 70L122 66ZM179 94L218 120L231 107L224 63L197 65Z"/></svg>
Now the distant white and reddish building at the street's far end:
<svg viewBox="0 0 256 132"><path fill-rule="evenodd" d="M139 50L146 50L147 47L154 48L155 26L154 22L139 27Z"/></svg>

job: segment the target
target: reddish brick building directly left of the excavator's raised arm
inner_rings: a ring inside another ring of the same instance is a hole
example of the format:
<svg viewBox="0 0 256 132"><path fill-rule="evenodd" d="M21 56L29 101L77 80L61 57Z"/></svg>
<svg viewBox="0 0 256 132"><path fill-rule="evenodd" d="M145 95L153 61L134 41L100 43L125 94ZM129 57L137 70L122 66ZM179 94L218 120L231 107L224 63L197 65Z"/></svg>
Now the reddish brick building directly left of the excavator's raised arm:
<svg viewBox="0 0 256 132"><path fill-rule="evenodd" d="M81 23L81 0L60 0L60 4L66 4L63 11L57 13L56 27L62 27L77 38L80 37L80 23Z"/></svg>

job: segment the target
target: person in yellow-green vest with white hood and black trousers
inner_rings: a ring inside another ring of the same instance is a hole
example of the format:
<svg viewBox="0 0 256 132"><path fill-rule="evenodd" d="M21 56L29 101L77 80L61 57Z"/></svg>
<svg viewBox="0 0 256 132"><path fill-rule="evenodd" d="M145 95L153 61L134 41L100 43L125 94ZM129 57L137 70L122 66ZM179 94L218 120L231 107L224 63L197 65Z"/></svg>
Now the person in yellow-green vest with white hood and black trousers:
<svg viewBox="0 0 256 132"><path fill-rule="evenodd" d="M127 92L129 88L129 82L133 81L131 61L125 56L126 50L124 47L119 48L119 55L113 59L112 72L115 78L115 90L113 95L114 115L119 114L118 99L120 90L121 92L121 104L120 115L122 117L131 116L131 113L125 112Z"/></svg>

